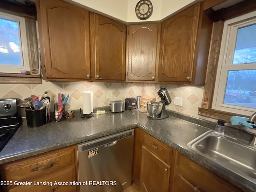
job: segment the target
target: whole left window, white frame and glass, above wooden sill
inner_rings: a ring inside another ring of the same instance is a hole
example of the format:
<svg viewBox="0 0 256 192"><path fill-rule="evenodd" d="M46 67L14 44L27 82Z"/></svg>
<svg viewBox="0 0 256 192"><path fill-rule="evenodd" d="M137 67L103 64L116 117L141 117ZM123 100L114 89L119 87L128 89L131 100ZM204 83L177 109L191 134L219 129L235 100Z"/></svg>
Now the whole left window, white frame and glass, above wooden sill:
<svg viewBox="0 0 256 192"><path fill-rule="evenodd" d="M30 70L25 18L0 12L0 72Z"/></svg>

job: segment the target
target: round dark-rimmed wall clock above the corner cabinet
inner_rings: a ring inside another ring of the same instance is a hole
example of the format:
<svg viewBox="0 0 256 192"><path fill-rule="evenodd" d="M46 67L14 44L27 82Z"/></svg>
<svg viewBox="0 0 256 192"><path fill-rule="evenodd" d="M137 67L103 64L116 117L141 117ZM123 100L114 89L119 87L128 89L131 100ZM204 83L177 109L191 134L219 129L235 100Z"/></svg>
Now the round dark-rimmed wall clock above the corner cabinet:
<svg viewBox="0 0 256 192"><path fill-rule="evenodd" d="M136 16L140 20L148 19L151 16L152 12L153 6L149 0L140 0L135 7Z"/></svg>

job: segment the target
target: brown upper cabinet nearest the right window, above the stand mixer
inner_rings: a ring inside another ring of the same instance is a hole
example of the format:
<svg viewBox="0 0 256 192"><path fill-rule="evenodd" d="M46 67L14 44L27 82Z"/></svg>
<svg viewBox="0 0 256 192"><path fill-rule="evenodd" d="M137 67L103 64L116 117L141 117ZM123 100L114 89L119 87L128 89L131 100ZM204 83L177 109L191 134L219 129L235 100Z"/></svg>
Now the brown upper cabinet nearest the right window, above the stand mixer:
<svg viewBox="0 0 256 192"><path fill-rule="evenodd" d="M204 85L212 21L197 3L162 23L158 81Z"/></svg>

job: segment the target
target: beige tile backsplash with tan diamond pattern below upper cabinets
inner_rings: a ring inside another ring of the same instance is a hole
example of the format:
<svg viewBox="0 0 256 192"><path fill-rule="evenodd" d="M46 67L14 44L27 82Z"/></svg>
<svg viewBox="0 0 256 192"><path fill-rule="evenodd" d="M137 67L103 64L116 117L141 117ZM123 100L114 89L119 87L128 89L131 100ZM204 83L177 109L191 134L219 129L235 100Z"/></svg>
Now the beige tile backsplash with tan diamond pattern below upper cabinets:
<svg viewBox="0 0 256 192"><path fill-rule="evenodd" d="M183 86L183 85L163 85L169 92L172 103L166 106L169 110L181 112L194 117L198 116L198 107L201 106L204 87L203 86ZM155 97L160 100L157 91L160 84L147 83L104 83L104 82L46 82L42 84L1 84L0 98L20 98L24 99L34 94L43 95L48 91L50 96L50 109L53 111L54 103L58 102L58 93L70 94L66 110L82 108L82 92L93 92L93 106L108 106L111 100L124 100L128 97L139 94ZM112 98L108 98L108 91L112 91ZM182 106L174 105L174 97L182 98Z"/></svg>

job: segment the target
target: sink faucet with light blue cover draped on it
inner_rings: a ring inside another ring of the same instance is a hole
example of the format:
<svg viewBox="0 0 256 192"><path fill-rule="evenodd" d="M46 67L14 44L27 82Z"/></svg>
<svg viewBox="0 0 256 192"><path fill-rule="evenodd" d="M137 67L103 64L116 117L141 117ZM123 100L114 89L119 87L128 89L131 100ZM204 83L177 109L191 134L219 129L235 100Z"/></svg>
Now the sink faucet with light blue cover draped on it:
<svg viewBox="0 0 256 192"><path fill-rule="evenodd" d="M232 116L230 118L230 122L232 125L241 125L244 127L244 130L253 135L253 139L250 142L250 146L256 147L256 124L254 124L254 120L256 120L256 112L247 117L239 117L239 116Z"/></svg>

